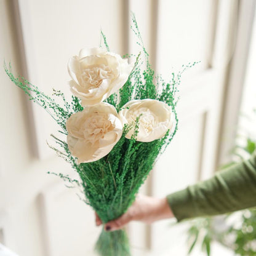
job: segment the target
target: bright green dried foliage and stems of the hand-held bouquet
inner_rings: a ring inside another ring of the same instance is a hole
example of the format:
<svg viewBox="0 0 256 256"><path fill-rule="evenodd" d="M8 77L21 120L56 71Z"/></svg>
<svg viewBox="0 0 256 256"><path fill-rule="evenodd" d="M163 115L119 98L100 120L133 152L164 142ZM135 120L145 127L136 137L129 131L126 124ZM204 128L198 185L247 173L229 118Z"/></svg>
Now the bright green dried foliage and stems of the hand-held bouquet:
<svg viewBox="0 0 256 256"><path fill-rule="evenodd" d="M196 63L189 64L183 67L183 70L175 76L172 74L172 80L169 83L162 81L160 77L155 78L154 70L148 61L148 53L143 46L138 25L133 17L134 30L137 34L142 52L146 61L146 68L142 70L143 60L141 54L137 56L134 69L130 73L126 84L119 90L118 94L113 94L106 99L106 102L115 106L119 111L124 104L132 99L151 98L166 102L172 107L175 115L174 127L167 132L166 136L154 140L153 142L143 143L136 141L136 128L134 136L129 140L125 138L129 127L124 127L119 142L114 146L113 150L104 158L95 162L77 164L76 159L68 150L67 143L58 138L56 135L51 135L54 138L57 147L50 146L56 151L58 156L70 163L74 171L79 174L81 180L72 180L70 177L63 174L55 174L63 178L65 182L71 183L72 186L79 186L86 196L86 203L92 206L101 218L103 223L118 218L128 207L134 202L135 194L145 182L146 177L153 169L153 166L166 146L177 132L177 86L180 84L180 77L186 68L194 66ZM101 32L103 42L107 50L109 50L106 42L106 36ZM72 97L68 103L62 92L54 91L54 96L62 99L62 105L55 102L54 97L49 97L41 92L38 87L33 86L30 82L22 77L15 78L12 74L11 67L7 68L4 65L7 75L14 84L22 89L28 95L30 100L42 106L60 126L61 134L67 135L66 121L71 114L83 110L79 98ZM154 81L157 81L156 84ZM138 128L137 120L137 128ZM102 231L98 239L95 249L100 255L129 255L129 243L124 231L114 231L106 233Z"/></svg>

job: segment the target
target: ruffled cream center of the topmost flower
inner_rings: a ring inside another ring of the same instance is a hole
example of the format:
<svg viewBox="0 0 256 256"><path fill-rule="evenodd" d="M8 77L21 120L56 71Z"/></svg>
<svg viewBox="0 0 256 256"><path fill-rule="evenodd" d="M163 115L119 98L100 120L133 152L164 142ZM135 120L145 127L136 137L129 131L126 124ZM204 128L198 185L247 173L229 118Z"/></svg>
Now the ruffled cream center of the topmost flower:
<svg viewBox="0 0 256 256"><path fill-rule="evenodd" d="M109 66L100 64L82 71L81 78L87 89L98 88L104 79L113 79L114 74Z"/></svg>

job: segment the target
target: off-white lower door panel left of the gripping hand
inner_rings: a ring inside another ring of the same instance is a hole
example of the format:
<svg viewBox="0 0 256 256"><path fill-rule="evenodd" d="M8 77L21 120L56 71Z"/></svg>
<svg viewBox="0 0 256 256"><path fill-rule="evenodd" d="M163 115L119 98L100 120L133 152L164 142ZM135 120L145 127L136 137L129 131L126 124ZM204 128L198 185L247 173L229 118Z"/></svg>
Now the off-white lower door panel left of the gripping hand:
<svg viewBox="0 0 256 256"><path fill-rule="evenodd" d="M47 255L95 255L94 244L101 228L94 223L94 212L63 183L42 191L40 209Z"/></svg>

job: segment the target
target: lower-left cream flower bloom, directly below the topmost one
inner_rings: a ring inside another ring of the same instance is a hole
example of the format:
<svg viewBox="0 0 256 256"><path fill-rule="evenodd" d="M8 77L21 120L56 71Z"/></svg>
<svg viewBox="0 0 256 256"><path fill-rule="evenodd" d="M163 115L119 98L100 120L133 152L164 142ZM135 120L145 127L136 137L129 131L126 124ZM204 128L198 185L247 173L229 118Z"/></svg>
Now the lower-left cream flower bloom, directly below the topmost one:
<svg viewBox="0 0 256 256"><path fill-rule="evenodd" d="M72 114L66 122L67 143L72 156L94 162L110 153L122 135L122 123L114 106L99 103Z"/></svg>

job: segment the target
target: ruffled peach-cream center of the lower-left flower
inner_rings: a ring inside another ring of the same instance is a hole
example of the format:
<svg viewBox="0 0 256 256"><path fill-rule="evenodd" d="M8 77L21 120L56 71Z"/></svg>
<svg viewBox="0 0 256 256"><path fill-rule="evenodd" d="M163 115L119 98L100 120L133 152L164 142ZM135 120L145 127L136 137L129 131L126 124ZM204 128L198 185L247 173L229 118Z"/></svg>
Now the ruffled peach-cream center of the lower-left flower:
<svg viewBox="0 0 256 256"><path fill-rule="evenodd" d="M97 147L99 140L114 127L107 114L94 113L86 119L82 129L85 140Z"/></svg>

